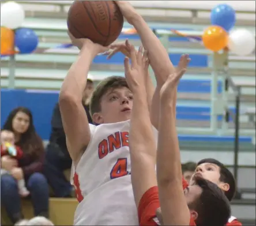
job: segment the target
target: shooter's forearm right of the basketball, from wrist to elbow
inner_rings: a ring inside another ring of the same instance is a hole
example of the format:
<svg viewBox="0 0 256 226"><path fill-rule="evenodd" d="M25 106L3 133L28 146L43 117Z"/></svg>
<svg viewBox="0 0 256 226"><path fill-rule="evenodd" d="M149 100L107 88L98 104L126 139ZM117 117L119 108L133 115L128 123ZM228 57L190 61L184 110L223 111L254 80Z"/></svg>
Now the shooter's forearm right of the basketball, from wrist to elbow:
<svg viewBox="0 0 256 226"><path fill-rule="evenodd" d="M163 84L168 75L175 71L168 52L142 17L134 17L133 26L138 32L144 48L148 50L148 58L155 72L157 84Z"/></svg>

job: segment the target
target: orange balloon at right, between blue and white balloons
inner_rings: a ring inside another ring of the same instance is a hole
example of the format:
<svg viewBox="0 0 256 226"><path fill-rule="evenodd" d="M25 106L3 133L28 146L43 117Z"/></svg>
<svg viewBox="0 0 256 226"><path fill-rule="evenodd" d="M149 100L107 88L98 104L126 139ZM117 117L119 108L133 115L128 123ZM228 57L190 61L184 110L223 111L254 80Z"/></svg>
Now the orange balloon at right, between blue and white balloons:
<svg viewBox="0 0 256 226"><path fill-rule="evenodd" d="M228 33L219 26L210 26L204 31L202 41L205 48L217 52L228 45Z"/></svg>

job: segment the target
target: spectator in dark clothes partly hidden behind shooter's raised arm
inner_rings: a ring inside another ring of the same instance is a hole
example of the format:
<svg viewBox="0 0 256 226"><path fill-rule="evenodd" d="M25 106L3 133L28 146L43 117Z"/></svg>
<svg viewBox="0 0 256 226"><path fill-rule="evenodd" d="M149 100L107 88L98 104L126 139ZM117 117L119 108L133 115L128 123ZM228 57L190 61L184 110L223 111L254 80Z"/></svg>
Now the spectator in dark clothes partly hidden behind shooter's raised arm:
<svg viewBox="0 0 256 226"><path fill-rule="evenodd" d="M84 91L84 108L89 123L92 123L89 114L89 99L93 92L93 81L88 79ZM71 169L72 160L66 146L66 135L62 126L59 104L54 107L51 119L50 142L46 148L46 160L44 162L44 175L54 191L55 197L72 197L73 186L66 179L63 171Z"/></svg>

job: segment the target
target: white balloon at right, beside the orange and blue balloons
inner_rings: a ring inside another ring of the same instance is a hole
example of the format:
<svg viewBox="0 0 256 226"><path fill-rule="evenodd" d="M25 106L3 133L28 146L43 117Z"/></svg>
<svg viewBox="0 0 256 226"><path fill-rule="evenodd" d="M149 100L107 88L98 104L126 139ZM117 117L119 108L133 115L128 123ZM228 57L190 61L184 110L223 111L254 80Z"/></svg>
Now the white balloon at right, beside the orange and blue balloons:
<svg viewBox="0 0 256 226"><path fill-rule="evenodd" d="M250 55L255 49L255 36L246 29L237 29L230 33L228 48L239 56Z"/></svg>

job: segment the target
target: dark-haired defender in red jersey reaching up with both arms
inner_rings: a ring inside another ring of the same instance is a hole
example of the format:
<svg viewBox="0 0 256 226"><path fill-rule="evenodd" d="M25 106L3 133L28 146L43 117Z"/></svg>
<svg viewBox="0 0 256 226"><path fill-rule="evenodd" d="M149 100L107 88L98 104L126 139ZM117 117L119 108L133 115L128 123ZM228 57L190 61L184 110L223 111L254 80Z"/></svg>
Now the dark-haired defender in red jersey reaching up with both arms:
<svg viewBox="0 0 256 226"><path fill-rule="evenodd" d="M130 84L137 84L133 89L134 105L131 114L129 145L131 182L138 206L140 225L156 224L154 216L156 209L159 208L159 200L165 225L208 224L211 226L224 225L228 221L230 214L228 199L216 184L195 176L195 184L183 191L174 106L176 105L176 84L185 73L188 62L188 56L183 56L176 69L177 73L168 78L160 92L161 107L157 147L157 183L160 188L160 197L157 195L156 146L153 142L149 110L146 107L145 81L136 77L133 78L137 80L136 82L130 82ZM136 65L133 59L131 63ZM170 147L173 148L172 151ZM145 208L152 210L151 219L146 219L148 216L144 215Z"/></svg>

